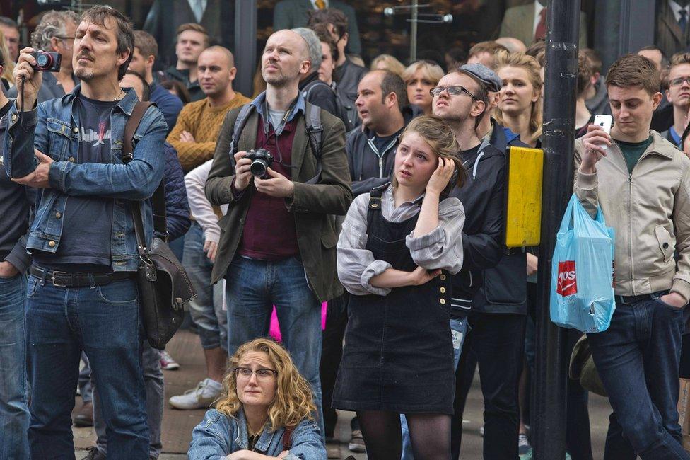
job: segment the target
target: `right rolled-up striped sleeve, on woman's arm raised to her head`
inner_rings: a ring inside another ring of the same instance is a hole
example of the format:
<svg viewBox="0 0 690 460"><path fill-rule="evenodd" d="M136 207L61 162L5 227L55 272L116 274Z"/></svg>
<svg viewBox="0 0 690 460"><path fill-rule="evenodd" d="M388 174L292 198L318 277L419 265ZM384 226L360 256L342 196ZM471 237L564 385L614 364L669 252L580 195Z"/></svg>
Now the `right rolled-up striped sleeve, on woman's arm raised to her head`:
<svg viewBox="0 0 690 460"><path fill-rule="evenodd" d="M405 240L414 263L428 270L447 270L455 275L462 268L462 227L464 208L457 198L438 205L438 226L419 237L414 231Z"/></svg>

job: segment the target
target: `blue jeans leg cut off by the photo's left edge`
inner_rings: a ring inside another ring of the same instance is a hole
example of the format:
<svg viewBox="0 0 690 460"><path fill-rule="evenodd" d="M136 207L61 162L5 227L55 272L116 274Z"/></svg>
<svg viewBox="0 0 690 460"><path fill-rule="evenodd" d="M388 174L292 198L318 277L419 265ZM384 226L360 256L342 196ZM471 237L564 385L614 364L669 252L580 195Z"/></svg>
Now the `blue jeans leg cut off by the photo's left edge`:
<svg viewBox="0 0 690 460"><path fill-rule="evenodd" d="M28 459L26 278L0 278L0 459Z"/></svg>

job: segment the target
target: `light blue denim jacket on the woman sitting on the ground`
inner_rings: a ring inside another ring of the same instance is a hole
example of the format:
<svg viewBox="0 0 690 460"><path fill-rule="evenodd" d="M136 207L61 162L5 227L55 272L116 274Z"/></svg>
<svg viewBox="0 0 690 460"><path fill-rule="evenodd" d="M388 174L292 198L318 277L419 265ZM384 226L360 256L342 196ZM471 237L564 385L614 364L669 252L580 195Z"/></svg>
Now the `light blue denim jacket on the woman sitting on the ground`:
<svg viewBox="0 0 690 460"><path fill-rule="evenodd" d="M268 456L278 456L283 452L283 433L280 427L271 431L264 429L257 440L253 452ZM326 460L326 447L315 422L302 420L291 435L292 447L285 460ZM244 410L240 410L236 418L228 417L218 410L206 412L204 420L194 428L192 442L189 444L189 460L218 460L226 456L247 449L249 436L247 435L247 419Z"/></svg>

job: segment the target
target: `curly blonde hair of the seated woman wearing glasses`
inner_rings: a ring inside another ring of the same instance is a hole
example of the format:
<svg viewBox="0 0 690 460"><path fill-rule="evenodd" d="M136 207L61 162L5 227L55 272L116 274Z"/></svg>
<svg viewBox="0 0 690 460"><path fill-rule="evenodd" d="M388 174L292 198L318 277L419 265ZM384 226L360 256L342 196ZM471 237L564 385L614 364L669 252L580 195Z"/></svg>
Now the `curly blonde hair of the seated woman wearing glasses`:
<svg viewBox="0 0 690 460"><path fill-rule="evenodd" d="M276 379L276 398L269 406L271 430L280 427L295 427L302 420L313 420L312 412L316 406L312 402L309 384L295 367L288 352L269 338L257 338L240 346L230 358L230 367L223 377L223 393L216 401L216 410L235 418L242 408L237 394L235 367L247 352L264 352L269 362L278 371Z"/></svg>

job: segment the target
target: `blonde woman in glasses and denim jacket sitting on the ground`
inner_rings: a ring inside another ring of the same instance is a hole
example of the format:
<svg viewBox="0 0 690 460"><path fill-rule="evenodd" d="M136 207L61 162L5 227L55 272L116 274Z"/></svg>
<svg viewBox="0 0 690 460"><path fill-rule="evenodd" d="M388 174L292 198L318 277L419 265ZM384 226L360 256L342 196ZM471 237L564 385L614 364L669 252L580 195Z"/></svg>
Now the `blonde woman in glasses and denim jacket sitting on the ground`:
<svg viewBox="0 0 690 460"><path fill-rule="evenodd" d="M190 460L325 460L307 381L288 352L257 338L238 348L216 408L194 428Z"/></svg>

